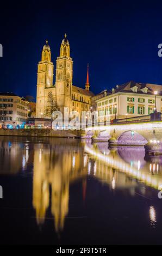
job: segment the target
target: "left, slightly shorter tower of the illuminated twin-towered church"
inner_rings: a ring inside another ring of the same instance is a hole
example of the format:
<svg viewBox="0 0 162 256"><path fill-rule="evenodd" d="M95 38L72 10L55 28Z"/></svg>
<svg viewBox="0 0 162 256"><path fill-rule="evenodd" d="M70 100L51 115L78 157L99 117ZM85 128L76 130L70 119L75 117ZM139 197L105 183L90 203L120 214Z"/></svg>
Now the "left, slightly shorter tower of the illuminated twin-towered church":
<svg viewBox="0 0 162 256"><path fill-rule="evenodd" d="M41 62L38 64L36 117L43 118L45 114L45 89L53 88L53 63L48 41L43 46Z"/></svg>

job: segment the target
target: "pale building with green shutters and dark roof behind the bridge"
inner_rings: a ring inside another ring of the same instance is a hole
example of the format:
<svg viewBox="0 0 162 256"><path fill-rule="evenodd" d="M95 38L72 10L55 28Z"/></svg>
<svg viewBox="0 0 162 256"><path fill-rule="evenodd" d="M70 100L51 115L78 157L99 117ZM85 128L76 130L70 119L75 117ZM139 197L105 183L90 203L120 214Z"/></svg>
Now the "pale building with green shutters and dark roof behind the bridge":
<svg viewBox="0 0 162 256"><path fill-rule="evenodd" d="M136 117L162 111L162 86L130 81L117 85L107 95L96 100L97 112L101 119Z"/></svg>

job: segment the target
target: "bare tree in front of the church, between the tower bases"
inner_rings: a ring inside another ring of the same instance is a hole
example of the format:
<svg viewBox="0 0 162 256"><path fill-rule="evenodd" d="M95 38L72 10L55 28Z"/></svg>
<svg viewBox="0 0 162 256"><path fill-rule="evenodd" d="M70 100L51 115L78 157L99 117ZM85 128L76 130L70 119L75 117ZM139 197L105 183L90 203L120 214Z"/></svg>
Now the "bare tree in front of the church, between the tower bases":
<svg viewBox="0 0 162 256"><path fill-rule="evenodd" d="M55 97L52 95L52 92L48 93L47 106L45 109L45 116L51 119L51 127L52 127L52 114L54 111L57 111L57 106L55 102Z"/></svg>

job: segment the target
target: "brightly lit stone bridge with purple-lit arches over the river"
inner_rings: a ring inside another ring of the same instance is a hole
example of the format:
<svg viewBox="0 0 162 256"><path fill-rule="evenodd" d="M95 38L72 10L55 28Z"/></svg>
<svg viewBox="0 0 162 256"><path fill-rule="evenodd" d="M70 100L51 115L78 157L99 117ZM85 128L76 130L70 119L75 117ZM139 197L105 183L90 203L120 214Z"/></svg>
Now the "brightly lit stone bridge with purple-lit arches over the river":
<svg viewBox="0 0 162 256"><path fill-rule="evenodd" d="M82 138L109 141L113 145L162 145L162 121L86 127Z"/></svg>

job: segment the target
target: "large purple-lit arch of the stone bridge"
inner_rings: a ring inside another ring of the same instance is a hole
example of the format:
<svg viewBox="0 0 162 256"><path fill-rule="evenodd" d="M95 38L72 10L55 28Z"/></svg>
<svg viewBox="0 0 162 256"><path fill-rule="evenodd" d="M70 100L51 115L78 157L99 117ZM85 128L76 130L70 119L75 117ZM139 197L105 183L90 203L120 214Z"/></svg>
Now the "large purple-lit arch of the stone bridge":
<svg viewBox="0 0 162 256"><path fill-rule="evenodd" d="M140 133L136 131L124 131L117 138L118 145L141 145L147 144L147 139L145 139Z"/></svg>

